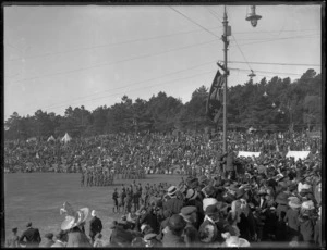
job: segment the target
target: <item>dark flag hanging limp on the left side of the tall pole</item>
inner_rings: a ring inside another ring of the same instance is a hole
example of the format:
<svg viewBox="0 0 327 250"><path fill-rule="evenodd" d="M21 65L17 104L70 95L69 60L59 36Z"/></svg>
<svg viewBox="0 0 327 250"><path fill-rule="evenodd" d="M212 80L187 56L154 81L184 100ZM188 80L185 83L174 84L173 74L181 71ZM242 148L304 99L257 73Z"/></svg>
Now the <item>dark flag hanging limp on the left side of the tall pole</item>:
<svg viewBox="0 0 327 250"><path fill-rule="evenodd" d="M223 84L225 84L225 76L221 75L221 73L218 70L210 87L210 91L207 100L207 107L206 107L207 116L209 117L210 121L215 123L218 122L218 118L222 112Z"/></svg>

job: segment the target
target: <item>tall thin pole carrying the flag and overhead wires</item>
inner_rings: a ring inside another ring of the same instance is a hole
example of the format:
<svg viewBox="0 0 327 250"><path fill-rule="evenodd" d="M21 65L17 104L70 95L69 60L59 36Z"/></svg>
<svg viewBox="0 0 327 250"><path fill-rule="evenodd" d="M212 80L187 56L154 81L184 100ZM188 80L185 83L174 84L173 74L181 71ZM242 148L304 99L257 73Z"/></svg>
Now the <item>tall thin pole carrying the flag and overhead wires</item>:
<svg viewBox="0 0 327 250"><path fill-rule="evenodd" d="M226 5L225 5L225 12L223 12L223 35L222 35L222 41L223 41L223 54L225 54L225 85L223 85L223 152L227 152L227 77L228 77L228 70L227 70L227 48L228 48L228 40L227 36L228 34L228 21L227 21L227 12L226 12Z"/></svg>

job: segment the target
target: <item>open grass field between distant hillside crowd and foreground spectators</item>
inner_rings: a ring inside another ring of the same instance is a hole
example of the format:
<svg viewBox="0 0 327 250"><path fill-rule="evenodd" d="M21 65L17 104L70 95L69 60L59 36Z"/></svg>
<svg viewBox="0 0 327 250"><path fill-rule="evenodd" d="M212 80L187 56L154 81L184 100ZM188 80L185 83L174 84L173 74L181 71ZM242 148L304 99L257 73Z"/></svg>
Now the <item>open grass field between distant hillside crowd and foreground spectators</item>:
<svg viewBox="0 0 327 250"><path fill-rule="evenodd" d="M17 173L4 176L4 209L5 209L5 236L11 234L11 228L17 227L19 235L26 229L27 222L38 228L41 237L46 233L56 233L64 220L59 210L64 201L70 202L74 209L89 208L96 210L104 224L104 239L110 236L109 225L118 218L112 213L112 192L122 184L129 185L131 179L116 179L113 186L81 187L80 174L57 173ZM136 180L143 185L169 183L178 184L181 176L175 175L147 175L146 179ZM88 221L86 234L88 235Z"/></svg>

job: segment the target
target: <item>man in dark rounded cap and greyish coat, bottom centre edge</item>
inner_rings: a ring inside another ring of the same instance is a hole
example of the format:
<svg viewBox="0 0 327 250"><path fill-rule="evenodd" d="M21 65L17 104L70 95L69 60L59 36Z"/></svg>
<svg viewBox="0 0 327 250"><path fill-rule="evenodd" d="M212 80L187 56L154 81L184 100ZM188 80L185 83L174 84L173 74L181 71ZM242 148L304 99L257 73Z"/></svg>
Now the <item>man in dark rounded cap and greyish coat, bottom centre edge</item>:
<svg viewBox="0 0 327 250"><path fill-rule="evenodd" d="M173 214L168 221L168 228L165 229L162 246L168 248L184 248L185 242L182 237L186 222L179 214Z"/></svg>

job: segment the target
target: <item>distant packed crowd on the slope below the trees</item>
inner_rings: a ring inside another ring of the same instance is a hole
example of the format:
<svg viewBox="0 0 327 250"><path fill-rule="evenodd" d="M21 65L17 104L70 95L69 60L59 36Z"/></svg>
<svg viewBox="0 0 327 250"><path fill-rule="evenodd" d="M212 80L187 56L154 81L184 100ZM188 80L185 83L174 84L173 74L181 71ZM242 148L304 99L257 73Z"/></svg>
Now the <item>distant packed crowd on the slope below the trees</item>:
<svg viewBox="0 0 327 250"><path fill-rule="evenodd" d="M222 148L217 134L117 134L61 141L4 141L4 171L81 173L101 168L121 178L130 175L204 174L217 164ZM302 133L229 133L229 150L284 155L289 150L320 152L320 139ZM195 167L196 166L196 167Z"/></svg>

